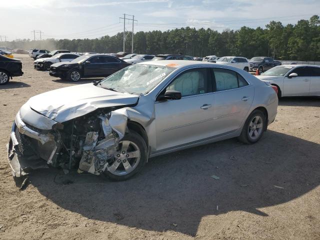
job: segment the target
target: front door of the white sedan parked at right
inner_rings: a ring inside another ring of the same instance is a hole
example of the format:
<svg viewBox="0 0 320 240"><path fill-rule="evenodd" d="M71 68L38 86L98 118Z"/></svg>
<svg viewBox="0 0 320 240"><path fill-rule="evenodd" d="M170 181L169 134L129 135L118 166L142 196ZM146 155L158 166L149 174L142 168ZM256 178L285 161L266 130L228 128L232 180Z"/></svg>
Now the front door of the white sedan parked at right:
<svg viewBox="0 0 320 240"><path fill-rule="evenodd" d="M289 77L296 73L297 76ZM311 72L305 66L297 66L286 73L283 80L283 96L306 96L309 95Z"/></svg>

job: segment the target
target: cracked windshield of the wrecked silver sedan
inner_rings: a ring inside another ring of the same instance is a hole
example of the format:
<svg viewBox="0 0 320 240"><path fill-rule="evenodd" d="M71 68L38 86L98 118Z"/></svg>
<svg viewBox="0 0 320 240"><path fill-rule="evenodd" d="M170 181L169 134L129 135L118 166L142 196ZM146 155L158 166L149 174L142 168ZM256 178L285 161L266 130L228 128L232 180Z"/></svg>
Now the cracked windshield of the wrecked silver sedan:
<svg viewBox="0 0 320 240"><path fill-rule="evenodd" d="M162 81L175 68L134 64L104 78L100 85L115 91L145 94Z"/></svg>

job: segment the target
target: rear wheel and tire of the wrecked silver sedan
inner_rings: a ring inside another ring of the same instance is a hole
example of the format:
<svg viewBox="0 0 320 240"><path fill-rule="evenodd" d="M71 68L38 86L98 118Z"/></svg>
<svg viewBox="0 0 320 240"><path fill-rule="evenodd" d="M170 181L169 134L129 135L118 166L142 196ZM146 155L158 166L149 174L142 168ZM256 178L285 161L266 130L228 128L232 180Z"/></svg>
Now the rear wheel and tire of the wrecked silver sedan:
<svg viewBox="0 0 320 240"><path fill-rule="evenodd" d="M266 129L265 115L261 110L255 109L245 120L238 140L245 144L255 143L262 137L264 129Z"/></svg>

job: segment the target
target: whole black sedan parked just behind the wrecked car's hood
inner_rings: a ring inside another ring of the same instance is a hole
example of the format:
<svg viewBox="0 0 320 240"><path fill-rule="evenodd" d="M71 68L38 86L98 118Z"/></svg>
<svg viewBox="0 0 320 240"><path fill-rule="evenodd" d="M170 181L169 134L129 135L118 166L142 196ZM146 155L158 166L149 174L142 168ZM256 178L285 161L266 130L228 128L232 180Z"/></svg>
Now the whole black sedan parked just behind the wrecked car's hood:
<svg viewBox="0 0 320 240"><path fill-rule="evenodd" d="M58 62L50 66L51 76L77 81L81 77L104 77L131 65L115 56L106 54L82 55L70 62Z"/></svg>

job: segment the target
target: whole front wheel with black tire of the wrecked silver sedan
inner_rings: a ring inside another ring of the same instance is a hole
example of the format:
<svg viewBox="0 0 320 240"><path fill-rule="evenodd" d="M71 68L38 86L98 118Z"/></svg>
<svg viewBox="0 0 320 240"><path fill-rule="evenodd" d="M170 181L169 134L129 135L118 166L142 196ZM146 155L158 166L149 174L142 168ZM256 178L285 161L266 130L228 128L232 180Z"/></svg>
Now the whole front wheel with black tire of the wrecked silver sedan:
<svg viewBox="0 0 320 240"><path fill-rule="evenodd" d="M126 147L126 145L128 146ZM122 150L122 147L124 147L124 150ZM134 156L136 157L127 157L129 154L132 154L130 152L135 152ZM108 167L103 174L115 181L126 180L139 172L145 165L147 160L146 143L142 136L130 130L130 132L126 133L119 141L119 149L117 149L114 156L114 161L110 163L110 167ZM127 164L127 162L129 166L127 165L128 168L126 170L124 165Z"/></svg>

